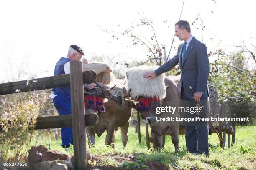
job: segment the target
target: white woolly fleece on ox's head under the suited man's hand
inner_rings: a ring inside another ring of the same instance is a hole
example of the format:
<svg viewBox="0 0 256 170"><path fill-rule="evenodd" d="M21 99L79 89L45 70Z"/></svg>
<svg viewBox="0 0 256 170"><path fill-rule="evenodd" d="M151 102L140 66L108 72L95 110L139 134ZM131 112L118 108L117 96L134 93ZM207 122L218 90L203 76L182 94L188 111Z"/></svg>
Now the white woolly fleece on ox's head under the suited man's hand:
<svg viewBox="0 0 256 170"><path fill-rule="evenodd" d="M126 71L127 90L132 99L136 100L143 95L144 97L158 97L163 100L166 95L166 86L164 84L164 75L154 77L151 80L144 78L143 74L156 70L157 66L139 66L132 67Z"/></svg>

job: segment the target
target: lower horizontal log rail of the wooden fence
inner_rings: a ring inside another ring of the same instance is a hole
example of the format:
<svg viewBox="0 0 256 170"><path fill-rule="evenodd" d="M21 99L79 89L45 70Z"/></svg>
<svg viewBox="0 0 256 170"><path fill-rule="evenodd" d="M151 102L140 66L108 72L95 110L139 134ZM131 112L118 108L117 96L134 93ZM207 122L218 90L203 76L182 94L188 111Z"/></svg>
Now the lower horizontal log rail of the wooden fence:
<svg viewBox="0 0 256 170"><path fill-rule="evenodd" d="M86 126L94 126L99 120L98 115L96 113L86 113L84 118ZM52 129L67 127L72 127L71 115L37 117L35 129ZM2 131L2 126L0 126L0 132Z"/></svg>

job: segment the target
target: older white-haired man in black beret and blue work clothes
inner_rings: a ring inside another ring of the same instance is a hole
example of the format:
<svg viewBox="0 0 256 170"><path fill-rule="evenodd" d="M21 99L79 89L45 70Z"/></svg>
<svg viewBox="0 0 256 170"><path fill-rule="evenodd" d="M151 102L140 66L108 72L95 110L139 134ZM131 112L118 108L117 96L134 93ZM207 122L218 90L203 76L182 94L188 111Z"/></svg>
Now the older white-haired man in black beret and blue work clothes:
<svg viewBox="0 0 256 170"><path fill-rule="evenodd" d="M69 62L71 60L81 60L84 52L81 47L77 45L70 45L67 57L61 57L55 65L54 75L69 74L70 67ZM87 60L84 60L87 62ZM95 83L84 85L84 89L90 90L96 87ZM54 106L59 112L59 115L69 115L71 114L71 93L70 86L53 88L54 95L53 98ZM61 140L62 147L69 148L73 144L72 128L62 128L61 129Z"/></svg>

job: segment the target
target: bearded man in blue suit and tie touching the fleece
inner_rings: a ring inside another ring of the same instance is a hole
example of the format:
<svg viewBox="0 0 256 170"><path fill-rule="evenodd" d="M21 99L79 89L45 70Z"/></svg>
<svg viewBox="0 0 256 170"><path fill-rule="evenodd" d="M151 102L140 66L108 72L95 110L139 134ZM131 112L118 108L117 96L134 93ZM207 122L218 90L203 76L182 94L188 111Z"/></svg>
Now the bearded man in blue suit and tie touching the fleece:
<svg viewBox="0 0 256 170"><path fill-rule="evenodd" d="M207 79L209 76L209 59L206 46L191 35L190 25L185 20L175 24L175 35L184 43L178 47L177 54L154 72L147 72L144 77L152 79L157 75L171 70L179 63L181 70L181 99L183 107L196 107L201 102L207 111L209 97ZM192 94L189 86L194 90ZM203 112L199 115L184 113L186 117L206 117ZM207 121L185 122L187 151L209 156Z"/></svg>

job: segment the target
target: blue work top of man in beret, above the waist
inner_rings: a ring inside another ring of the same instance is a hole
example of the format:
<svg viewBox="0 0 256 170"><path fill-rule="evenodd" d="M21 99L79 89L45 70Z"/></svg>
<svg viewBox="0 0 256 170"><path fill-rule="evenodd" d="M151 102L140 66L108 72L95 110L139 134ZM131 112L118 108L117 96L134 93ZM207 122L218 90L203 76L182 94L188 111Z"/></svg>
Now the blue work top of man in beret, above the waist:
<svg viewBox="0 0 256 170"><path fill-rule="evenodd" d="M61 57L61 59L59 59L59 61L55 65L54 75L65 74L64 64L66 64L69 61L71 61L69 58ZM52 91L60 92L60 93L67 93L70 95L70 86L53 88Z"/></svg>

